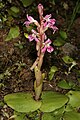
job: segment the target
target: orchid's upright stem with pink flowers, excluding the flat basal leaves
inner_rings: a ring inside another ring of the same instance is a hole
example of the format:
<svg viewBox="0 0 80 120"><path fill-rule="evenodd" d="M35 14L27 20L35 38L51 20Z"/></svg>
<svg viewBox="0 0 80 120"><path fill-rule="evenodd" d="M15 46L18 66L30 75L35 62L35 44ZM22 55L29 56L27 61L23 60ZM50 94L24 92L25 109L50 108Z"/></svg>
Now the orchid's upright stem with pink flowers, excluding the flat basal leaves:
<svg viewBox="0 0 80 120"><path fill-rule="evenodd" d="M53 34L58 30L58 28L55 26L56 20L51 18L51 14L43 16L43 5L38 5L38 12L39 12L39 18L40 23L35 20L32 16L29 16L27 14L27 21L24 22L26 27L30 26L30 24L35 24L37 26L37 29L32 29L32 34L28 35L27 38L29 41L36 41L36 50L37 50L37 58L35 62L33 63L31 70L34 69L35 71L35 82L34 82L34 90L35 90L35 100L39 100L41 91L42 91L42 83L43 83L43 74L41 72L41 66L43 63L43 57L45 52L51 53L54 51L54 48L51 46L52 41L47 38L46 31L48 28L51 28L53 30Z"/></svg>

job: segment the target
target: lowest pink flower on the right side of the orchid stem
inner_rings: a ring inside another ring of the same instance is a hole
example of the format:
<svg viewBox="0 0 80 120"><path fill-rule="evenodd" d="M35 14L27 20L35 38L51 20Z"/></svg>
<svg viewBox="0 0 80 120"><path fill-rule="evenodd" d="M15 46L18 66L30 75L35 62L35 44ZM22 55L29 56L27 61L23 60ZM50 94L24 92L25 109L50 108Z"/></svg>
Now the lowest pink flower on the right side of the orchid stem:
<svg viewBox="0 0 80 120"><path fill-rule="evenodd" d="M50 39L48 39L45 43L43 43L43 47L42 47L41 52L45 53L47 50L47 52L51 53L54 50L54 48L52 46L50 46L50 44L51 44Z"/></svg>

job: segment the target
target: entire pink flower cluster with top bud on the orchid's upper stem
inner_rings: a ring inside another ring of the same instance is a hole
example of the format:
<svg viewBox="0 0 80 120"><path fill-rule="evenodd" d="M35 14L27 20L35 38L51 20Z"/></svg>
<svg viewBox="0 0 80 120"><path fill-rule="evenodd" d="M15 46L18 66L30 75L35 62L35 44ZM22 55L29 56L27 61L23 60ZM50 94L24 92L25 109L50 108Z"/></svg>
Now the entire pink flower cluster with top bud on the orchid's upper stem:
<svg viewBox="0 0 80 120"><path fill-rule="evenodd" d="M27 14L27 21L24 22L26 26L29 26L31 23L34 23L37 26L37 31L32 29L32 34L28 36L29 41L36 41L36 50L41 51L42 53L45 53L46 51L51 53L54 48L51 46L51 40L47 39L47 36L45 34L45 31L48 28L51 28L53 30L53 34L58 30L58 28L55 26L56 20L53 18L51 19L51 14L46 15L43 17L43 5L38 5L38 12L40 17L40 24L37 20L35 20L33 17L28 16ZM46 40L47 39L47 40Z"/></svg>

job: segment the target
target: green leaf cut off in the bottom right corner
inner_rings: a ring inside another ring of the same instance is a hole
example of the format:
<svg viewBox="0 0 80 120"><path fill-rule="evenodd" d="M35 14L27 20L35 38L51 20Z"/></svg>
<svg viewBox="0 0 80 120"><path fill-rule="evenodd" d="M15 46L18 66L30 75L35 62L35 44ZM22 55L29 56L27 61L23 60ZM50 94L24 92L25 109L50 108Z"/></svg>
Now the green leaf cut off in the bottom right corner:
<svg viewBox="0 0 80 120"><path fill-rule="evenodd" d="M75 111L65 112L63 120L80 120L80 113Z"/></svg>

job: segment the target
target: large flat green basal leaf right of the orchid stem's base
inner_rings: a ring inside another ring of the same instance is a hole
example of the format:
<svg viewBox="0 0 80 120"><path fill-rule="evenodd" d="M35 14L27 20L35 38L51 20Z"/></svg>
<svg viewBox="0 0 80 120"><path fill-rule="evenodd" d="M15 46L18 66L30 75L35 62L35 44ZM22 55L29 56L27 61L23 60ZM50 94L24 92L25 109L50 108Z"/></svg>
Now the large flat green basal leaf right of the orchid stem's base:
<svg viewBox="0 0 80 120"><path fill-rule="evenodd" d="M59 94L57 92L43 92L42 104L40 110L42 112L52 112L58 108L61 108L68 101L66 95Z"/></svg>

